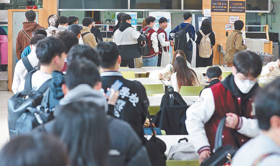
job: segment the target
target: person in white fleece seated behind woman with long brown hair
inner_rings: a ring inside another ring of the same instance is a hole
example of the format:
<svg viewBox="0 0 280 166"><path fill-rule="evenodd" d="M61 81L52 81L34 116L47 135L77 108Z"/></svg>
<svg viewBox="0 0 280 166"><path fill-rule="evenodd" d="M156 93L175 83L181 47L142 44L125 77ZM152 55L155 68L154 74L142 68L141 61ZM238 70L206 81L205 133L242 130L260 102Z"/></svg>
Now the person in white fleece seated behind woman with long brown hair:
<svg viewBox="0 0 280 166"><path fill-rule="evenodd" d="M173 66L174 66L175 59L179 56L184 57L185 60L186 60L187 66L189 68L191 68L190 63L187 61L185 53L182 50L176 50L174 55L173 55L172 62L169 63L168 65L166 65L164 70L161 73L158 74L159 79L170 79L170 77L172 75L172 72L173 72ZM201 73L197 72L197 71L195 71L195 72L196 72L196 75L199 77L198 80L201 79L201 81L202 81L202 79L203 79L203 82L204 82L203 75Z"/></svg>

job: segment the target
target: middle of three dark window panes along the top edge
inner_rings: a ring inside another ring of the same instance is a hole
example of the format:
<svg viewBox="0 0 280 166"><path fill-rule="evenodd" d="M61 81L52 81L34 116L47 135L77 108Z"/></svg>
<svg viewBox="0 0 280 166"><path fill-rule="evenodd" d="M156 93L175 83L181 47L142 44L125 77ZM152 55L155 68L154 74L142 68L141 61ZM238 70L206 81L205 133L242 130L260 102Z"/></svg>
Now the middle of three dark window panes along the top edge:
<svg viewBox="0 0 280 166"><path fill-rule="evenodd" d="M130 0L130 9L180 10L181 0Z"/></svg>

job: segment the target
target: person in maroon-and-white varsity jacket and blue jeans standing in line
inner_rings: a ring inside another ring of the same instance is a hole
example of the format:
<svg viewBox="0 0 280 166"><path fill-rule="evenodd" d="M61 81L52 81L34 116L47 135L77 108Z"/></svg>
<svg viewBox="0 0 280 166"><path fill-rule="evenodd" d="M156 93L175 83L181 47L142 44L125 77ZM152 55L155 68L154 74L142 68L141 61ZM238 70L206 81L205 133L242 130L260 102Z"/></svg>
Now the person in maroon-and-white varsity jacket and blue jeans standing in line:
<svg viewBox="0 0 280 166"><path fill-rule="evenodd" d="M155 25L156 18L149 16L146 19L147 26L145 26L142 31L146 34L148 40L149 54L147 56L142 56L143 58L143 66L157 66L158 59L158 39L157 33L153 29Z"/></svg>

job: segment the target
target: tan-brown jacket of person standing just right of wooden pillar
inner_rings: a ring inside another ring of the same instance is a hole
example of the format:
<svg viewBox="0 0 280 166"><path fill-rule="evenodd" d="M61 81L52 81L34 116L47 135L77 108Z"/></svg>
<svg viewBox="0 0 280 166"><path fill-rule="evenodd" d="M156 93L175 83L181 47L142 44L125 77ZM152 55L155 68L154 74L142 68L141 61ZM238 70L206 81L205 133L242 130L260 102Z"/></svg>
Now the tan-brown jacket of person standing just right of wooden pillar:
<svg viewBox="0 0 280 166"><path fill-rule="evenodd" d="M234 30L226 40L225 61L233 62L235 53L246 49L247 46L243 43L241 31Z"/></svg>

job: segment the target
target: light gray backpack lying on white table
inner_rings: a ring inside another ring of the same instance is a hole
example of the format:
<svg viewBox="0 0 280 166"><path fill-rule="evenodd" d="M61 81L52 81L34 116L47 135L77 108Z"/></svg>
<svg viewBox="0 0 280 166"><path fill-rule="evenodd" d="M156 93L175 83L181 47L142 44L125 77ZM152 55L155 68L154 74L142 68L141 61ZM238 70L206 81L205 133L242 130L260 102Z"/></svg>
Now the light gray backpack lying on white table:
<svg viewBox="0 0 280 166"><path fill-rule="evenodd" d="M182 140L185 141L181 142ZM195 160L198 158L198 153L187 138L179 139L178 144L172 145L167 155L167 160Z"/></svg>

